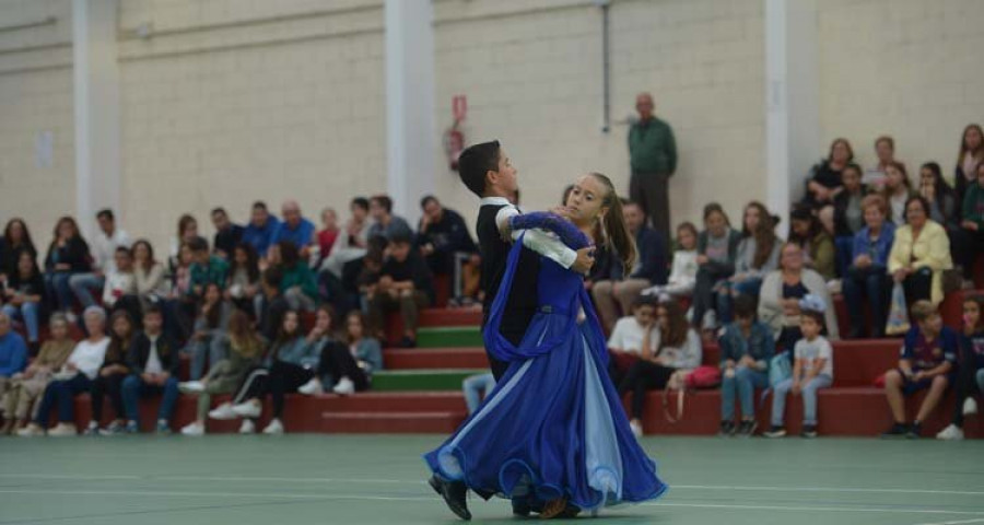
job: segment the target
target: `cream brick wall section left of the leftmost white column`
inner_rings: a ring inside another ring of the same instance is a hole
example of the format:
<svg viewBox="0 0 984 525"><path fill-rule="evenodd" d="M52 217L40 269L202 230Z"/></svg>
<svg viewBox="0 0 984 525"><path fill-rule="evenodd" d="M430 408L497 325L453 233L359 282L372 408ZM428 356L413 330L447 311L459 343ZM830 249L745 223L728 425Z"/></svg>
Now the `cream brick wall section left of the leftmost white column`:
<svg viewBox="0 0 984 525"><path fill-rule="evenodd" d="M21 217L42 252L58 215L75 209L74 118L68 0L9 0L0 4L0 25L56 16L44 25L0 34L0 229ZM16 49L21 51L14 52ZM39 133L52 133L50 167L38 165ZM0 230L2 234L2 230Z"/></svg>

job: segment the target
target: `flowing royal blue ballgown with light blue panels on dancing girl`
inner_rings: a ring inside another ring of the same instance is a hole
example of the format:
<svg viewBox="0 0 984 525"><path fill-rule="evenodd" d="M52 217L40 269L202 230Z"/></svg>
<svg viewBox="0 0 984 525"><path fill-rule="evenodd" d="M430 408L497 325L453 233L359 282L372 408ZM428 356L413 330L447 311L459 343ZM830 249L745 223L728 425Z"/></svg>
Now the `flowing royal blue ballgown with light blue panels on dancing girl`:
<svg viewBox="0 0 984 525"><path fill-rule="evenodd" d="M552 213L517 215L512 226L549 230L573 249L590 244ZM607 345L583 276L541 257L540 307L526 336L515 347L499 332L520 249L522 240L509 253L483 334L485 347L509 369L424 460L442 478L461 480L480 495L526 499L534 508L566 498L596 511L658 498L667 486L632 435L608 377Z"/></svg>

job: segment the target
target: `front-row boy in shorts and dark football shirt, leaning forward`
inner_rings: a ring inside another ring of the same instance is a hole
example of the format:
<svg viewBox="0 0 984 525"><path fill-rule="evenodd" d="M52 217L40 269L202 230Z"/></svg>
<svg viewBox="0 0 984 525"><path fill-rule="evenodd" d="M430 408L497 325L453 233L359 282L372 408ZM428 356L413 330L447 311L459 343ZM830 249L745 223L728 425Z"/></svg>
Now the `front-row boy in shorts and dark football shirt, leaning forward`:
<svg viewBox="0 0 984 525"><path fill-rule="evenodd" d="M922 423L929 417L952 382L959 342L957 332L942 326L942 317L929 301L912 305L916 322L905 335L899 366L885 374L885 395L894 423L882 438L918 439ZM906 424L905 396L928 389L912 424Z"/></svg>

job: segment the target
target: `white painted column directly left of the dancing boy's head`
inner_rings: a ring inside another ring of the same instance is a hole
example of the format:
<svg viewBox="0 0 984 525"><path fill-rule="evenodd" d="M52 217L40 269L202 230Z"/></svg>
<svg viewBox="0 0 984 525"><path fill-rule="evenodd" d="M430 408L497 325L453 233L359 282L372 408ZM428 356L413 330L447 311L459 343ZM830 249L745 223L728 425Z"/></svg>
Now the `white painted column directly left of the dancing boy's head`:
<svg viewBox="0 0 984 525"><path fill-rule="evenodd" d="M431 0L386 0L386 173L394 211L415 225L434 190L434 28Z"/></svg>

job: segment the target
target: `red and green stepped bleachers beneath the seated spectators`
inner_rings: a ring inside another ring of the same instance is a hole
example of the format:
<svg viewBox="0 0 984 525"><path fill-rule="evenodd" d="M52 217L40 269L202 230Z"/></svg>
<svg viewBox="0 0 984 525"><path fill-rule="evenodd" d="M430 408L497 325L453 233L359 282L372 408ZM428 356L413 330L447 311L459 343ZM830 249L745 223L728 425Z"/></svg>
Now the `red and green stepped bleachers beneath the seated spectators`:
<svg viewBox="0 0 984 525"><path fill-rule="evenodd" d="M942 305L948 324L952 324L954 318L953 305L959 307L961 300L962 294L953 294ZM488 366L480 346L480 323L481 312L477 310L430 308L423 312L422 346L436 348L386 349L386 370L376 375L375 392L350 397L290 395L284 413L286 430L324 433L454 431L467 415L460 393L461 378L471 373L482 373ZM388 323L390 340L396 340L401 329L399 319L391 317ZM885 395L874 383L897 364L900 346L900 339L834 343L835 383L819 395L819 431L822 435L874 436L890 424ZM705 346L705 364L716 364L718 358L719 350L715 345ZM218 396L213 405L226 399L227 396ZM922 395L910 400L911 416L921 400ZM949 422L953 404L951 394L933 418L925 422L926 435L932 435ZM758 393L757 405L760 425L765 427L771 398L763 401L761 393ZM151 430L153 425L156 407L156 399L141 405L145 430ZM79 396L75 408L75 420L81 429L90 417L87 396ZM173 421L174 429L190 422L195 409L195 397L181 396ZM792 432L799 431L801 409L801 402L797 399L787 402L786 421ZM268 405L260 418L261 424L268 420L269 410ZM107 418L113 416L112 410L105 412ZM651 392L643 424L649 434L710 435L717 431L719 413L718 389L688 393L683 420L670 423L663 413L663 393ZM209 432L234 432L237 428L237 421L209 422ZM965 431L969 438L984 436L984 418L969 418Z"/></svg>

